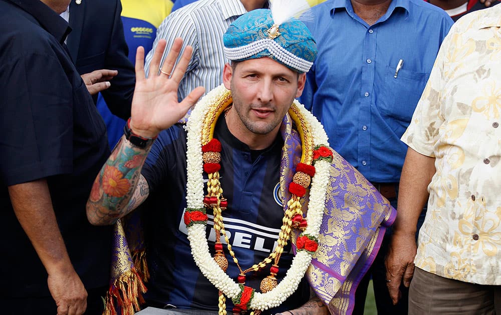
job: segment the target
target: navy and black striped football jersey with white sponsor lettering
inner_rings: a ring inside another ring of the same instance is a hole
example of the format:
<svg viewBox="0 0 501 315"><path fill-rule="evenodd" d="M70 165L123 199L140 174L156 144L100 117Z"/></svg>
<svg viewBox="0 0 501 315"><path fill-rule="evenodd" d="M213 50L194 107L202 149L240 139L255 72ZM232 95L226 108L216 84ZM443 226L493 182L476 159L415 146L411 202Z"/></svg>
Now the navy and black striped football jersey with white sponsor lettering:
<svg viewBox="0 0 501 315"><path fill-rule="evenodd" d="M229 241L240 266L246 269L268 257L276 246L284 211L278 194L283 140L280 136L267 149L249 150L219 119L214 137L221 142L220 182L228 209L222 213ZM187 229L183 221L186 207L186 132L181 125L162 131L153 144L142 170L150 194L143 206L151 279L147 300L154 305L172 304L180 308L217 310L217 289L200 273L193 261ZM207 175L204 173L204 178ZM207 237L213 254L213 216L208 213ZM221 239L223 239L221 237ZM285 251L291 250L290 244ZM224 246L234 280L238 269ZM280 259L278 278L285 276L293 255ZM246 285L257 288L270 274L270 266L257 274L247 273ZM303 279L298 290L275 313L295 308L309 299L310 289ZM228 310L231 300L226 299Z"/></svg>

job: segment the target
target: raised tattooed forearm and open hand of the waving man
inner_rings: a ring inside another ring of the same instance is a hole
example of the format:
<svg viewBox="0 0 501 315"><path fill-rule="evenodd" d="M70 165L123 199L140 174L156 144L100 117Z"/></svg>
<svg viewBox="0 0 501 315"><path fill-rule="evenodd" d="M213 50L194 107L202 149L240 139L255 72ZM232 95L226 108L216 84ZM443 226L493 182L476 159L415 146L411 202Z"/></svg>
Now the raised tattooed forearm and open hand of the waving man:
<svg viewBox="0 0 501 315"><path fill-rule="evenodd" d="M144 48L140 46L136 52L136 87L129 125L132 133L145 138L154 138L176 123L204 92L203 87L197 87L178 102L177 88L192 48L186 46L174 69L182 46L182 39L176 38L159 70L165 45L165 40L158 42L148 78L144 74ZM97 175L87 200L87 217L92 224L113 224L146 199L149 187L141 168L150 148L151 144L140 148L122 136Z"/></svg>

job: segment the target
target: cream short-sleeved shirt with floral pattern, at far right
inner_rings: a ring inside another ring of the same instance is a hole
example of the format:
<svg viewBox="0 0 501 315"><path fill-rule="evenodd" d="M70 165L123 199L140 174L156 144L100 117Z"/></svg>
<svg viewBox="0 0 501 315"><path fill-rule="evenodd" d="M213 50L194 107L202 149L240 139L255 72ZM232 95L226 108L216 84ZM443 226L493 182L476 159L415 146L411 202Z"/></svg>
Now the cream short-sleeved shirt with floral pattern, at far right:
<svg viewBox="0 0 501 315"><path fill-rule="evenodd" d="M435 157L416 266L501 284L501 5L467 14L444 39L402 140Z"/></svg>

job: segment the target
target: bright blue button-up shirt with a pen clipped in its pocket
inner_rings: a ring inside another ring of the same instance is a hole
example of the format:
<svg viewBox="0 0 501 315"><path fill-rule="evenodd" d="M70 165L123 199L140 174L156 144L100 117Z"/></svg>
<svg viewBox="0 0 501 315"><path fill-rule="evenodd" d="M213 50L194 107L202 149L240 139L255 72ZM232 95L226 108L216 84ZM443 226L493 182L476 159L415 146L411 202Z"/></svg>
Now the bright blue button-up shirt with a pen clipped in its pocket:
<svg viewBox="0 0 501 315"><path fill-rule="evenodd" d="M301 102L324 124L331 146L365 177L398 181L407 150L400 136L451 18L423 0L393 0L373 25L355 14L349 0L312 10L315 18L307 25L318 56Z"/></svg>

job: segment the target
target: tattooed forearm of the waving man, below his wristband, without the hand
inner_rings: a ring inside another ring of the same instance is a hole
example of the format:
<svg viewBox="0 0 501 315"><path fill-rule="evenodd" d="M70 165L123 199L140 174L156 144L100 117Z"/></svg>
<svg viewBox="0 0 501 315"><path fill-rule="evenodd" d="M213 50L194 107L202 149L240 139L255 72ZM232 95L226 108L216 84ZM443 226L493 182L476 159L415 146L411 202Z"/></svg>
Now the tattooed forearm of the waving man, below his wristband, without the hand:
<svg viewBox="0 0 501 315"><path fill-rule="evenodd" d="M149 194L141 168L150 146L139 148L124 137L97 175L87 200L87 217L92 224L113 224Z"/></svg>

